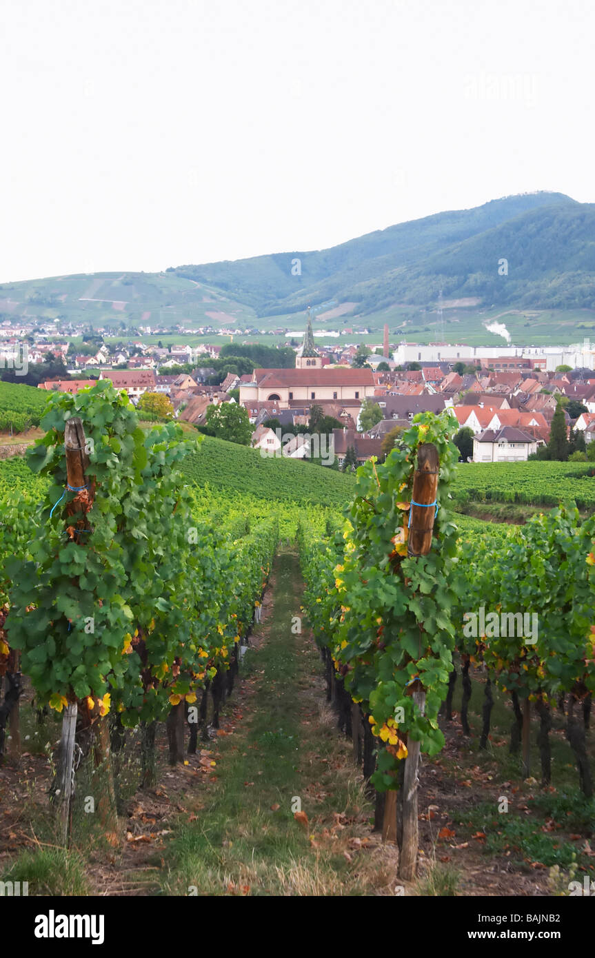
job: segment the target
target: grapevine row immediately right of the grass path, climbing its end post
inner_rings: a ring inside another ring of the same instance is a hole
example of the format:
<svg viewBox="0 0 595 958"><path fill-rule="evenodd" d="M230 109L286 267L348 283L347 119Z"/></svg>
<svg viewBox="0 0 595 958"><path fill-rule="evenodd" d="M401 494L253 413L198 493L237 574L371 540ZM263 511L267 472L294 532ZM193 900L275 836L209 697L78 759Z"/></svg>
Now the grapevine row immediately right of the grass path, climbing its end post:
<svg viewBox="0 0 595 958"><path fill-rule="evenodd" d="M384 810L388 833L397 830L392 810L394 793L407 777L402 760L412 762L415 756L414 783L419 752L433 755L444 744L438 710L452 669L455 627L450 609L458 604L453 587L457 530L445 508L456 448L447 439L443 419L423 414L416 420L384 465L369 462L358 468L342 535L326 542L316 542L307 529L299 535L307 582L305 607L314 635L332 657L344 689L360 706L364 736L367 723L377 740L378 762L371 781L378 791L392 793ZM421 465L428 445L440 458L437 504L414 498L420 474L416 459ZM415 525L410 528L414 506L431 510L430 520L436 508L432 548L426 555L410 548L416 531ZM407 817L415 818L417 855L417 805L413 812L403 809L401 814L405 825ZM400 875L411 878L415 855L406 827L400 846Z"/></svg>

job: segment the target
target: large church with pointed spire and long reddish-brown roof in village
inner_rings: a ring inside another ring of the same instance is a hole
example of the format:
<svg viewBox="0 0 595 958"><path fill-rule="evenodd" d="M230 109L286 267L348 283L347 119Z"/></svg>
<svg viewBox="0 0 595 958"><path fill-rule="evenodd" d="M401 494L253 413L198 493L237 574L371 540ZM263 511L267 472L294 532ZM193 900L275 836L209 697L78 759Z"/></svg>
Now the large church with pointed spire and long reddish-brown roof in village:
<svg viewBox="0 0 595 958"><path fill-rule="evenodd" d="M295 358L295 369L255 369L250 382L240 383L240 402L278 402L281 409L311 402L363 401L374 396L371 369L323 366L314 345L311 320Z"/></svg>

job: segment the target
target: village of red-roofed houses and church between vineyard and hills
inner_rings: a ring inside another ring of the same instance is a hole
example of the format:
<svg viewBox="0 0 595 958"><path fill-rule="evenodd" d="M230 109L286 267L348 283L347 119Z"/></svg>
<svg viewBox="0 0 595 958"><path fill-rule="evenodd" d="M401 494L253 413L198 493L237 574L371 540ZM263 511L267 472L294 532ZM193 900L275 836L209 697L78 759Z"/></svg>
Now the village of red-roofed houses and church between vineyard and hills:
<svg viewBox="0 0 595 958"><path fill-rule="evenodd" d="M470 430L472 446L464 461L526 461L548 444L559 404L567 436L578 437L577 448L584 450L595 440L595 350L588 340L576 348L391 346L385 327L378 346L318 346L308 314L301 345L295 339L286 342L294 349L295 368L255 364L252 373L217 378L209 365L219 357L216 344L168 349L141 337L121 349L102 344L78 354L67 336L50 337L49 332L15 330L3 323L3 364L18 370L24 347L29 363L42 363L52 354L68 377L46 379L39 388L76 393L98 377L108 378L135 404L144 394L167 397L172 416L197 428L205 426L210 406L238 403L252 426L251 445L263 455L320 456L308 432L313 407L332 425L323 450L325 465L333 456L338 468L345 468L346 459L352 468L372 456L381 461L391 447L387 437L425 411L450 410L459 429ZM86 369L95 372L86 378Z"/></svg>

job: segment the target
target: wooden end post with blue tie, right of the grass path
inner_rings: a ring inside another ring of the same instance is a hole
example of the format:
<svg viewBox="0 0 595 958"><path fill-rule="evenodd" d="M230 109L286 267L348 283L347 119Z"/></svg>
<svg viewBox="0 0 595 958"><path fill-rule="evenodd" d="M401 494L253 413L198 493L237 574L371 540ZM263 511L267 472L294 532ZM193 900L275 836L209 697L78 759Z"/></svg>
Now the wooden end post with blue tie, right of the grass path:
<svg viewBox="0 0 595 958"><path fill-rule="evenodd" d="M418 468L413 477L413 501L411 505L407 555L410 558L426 556L432 545L432 534L436 510L431 503L436 501L438 493L438 473L440 460L438 450L432 443L418 446ZM420 655L422 654L422 635L420 633ZM411 697L415 709L423 715L425 710L425 691L419 681L413 683ZM418 828L418 785L419 785L420 742L407 740L407 758L402 786L402 841L399 855L399 875L407 881L415 878L417 871L419 828Z"/></svg>

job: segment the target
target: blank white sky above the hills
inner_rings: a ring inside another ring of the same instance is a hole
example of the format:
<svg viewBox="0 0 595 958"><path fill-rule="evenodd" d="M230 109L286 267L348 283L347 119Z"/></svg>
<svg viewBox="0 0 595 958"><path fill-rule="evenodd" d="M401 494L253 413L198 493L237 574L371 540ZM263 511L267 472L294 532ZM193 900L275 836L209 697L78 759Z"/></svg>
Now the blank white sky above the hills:
<svg viewBox="0 0 595 958"><path fill-rule="evenodd" d="M593 0L2 0L0 282L595 201Z"/></svg>

